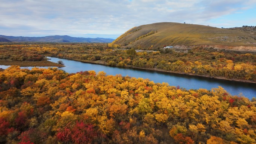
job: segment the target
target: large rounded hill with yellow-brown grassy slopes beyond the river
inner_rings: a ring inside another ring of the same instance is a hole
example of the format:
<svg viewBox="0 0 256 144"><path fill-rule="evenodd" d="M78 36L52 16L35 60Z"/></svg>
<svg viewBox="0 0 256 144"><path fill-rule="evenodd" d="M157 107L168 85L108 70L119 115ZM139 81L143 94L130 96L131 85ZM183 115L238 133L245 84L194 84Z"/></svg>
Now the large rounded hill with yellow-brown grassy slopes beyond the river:
<svg viewBox="0 0 256 144"><path fill-rule="evenodd" d="M244 46L256 50L256 34L205 25L161 22L131 28L110 45L124 48L164 46Z"/></svg>

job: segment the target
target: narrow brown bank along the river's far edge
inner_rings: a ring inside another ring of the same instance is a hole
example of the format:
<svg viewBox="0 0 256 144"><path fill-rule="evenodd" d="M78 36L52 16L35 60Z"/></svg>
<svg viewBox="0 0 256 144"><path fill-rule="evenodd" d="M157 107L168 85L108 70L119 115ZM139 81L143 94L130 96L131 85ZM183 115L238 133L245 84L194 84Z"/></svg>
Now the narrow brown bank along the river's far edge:
<svg viewBox="0 0 256 144"><path fill-rule="evenodd" d="M48 55L48 56L50 56L50 55ZM52 57L54 57L54 56L52 56ZM101 61L101 60L89 61L89 60L85 60L85 59L76 59L76 58L62 58L62 59L86 62L86 63L89 63L89 64L100 64L100 65L110 66L106 62ZM128 65L127 67L123 67L123 68L135 68L135 69L140 69L140 70L159 71L159 72L173 73L173 74L184 74L184 75L189 75L189 76L207 77L207 78L212 78L212 79L220 79L220 80L228 80L228 81L244 82L244 83L254 83L254 84L256 84L256 82L254 82L252 80L228 79L226 77L220 77L220 76L219 77L212 77L210 75L209 76L202 76L202 75L196 75L196 74L192 74L192 73L181 73L181 72L177 72L177 71L167 71L167 70L162 70L162 69L158 69L158 68L134 67L132 65Z"/></svg>

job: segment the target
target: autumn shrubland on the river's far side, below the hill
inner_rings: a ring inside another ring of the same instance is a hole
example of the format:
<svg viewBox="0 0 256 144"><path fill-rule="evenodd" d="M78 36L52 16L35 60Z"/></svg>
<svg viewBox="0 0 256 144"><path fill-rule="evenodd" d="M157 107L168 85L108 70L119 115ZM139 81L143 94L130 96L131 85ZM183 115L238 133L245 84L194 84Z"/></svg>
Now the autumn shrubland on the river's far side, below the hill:
<svg viewBox="0 0 256 144"><path fill-rule="evenodd" d="M54 56L117 67L151 68L174 73L256 82L256 55L250 52L196 46L184 52L163 47L153 49L140 46L135 49L146 51L136 52L133 48L125 50L117 47L119 46L111 43L109 45L106 43L0 45L0 65L18 65L21 61L35 65L33 61L42 61L44 56ZM7 60L8 63L6 63ZM52 66L49 61L44 61L40 65ZM12 82L15 84L14 82L17 81L13 79Z"/></svg>

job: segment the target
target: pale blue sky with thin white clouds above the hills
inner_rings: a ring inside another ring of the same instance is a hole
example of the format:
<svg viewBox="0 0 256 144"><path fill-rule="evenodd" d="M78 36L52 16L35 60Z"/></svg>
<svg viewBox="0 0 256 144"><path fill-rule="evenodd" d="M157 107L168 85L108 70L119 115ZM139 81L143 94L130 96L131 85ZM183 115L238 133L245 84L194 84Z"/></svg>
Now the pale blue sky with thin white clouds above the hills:
<svg viewBox="0 0 256 144"><path fill-rule="evenodd" d="M132 27L179 22L256 26L256 0L0 0L0 35L116 39Z"/></svg>

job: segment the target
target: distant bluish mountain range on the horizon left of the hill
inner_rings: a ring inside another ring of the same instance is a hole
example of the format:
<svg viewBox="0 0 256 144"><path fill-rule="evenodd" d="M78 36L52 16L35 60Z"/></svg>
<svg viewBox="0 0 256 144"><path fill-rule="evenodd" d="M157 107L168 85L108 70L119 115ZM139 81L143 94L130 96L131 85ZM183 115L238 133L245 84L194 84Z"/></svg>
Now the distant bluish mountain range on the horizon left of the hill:
<svg viewBox="0 0 256 144"><path fill-rule="evenodd" d="M45 37L14 37L0 35L0 42L88 42L88 43L111 43L114 39L105 38L84 38L84 37L70 37L70 36L45 36Z"/></svg>

